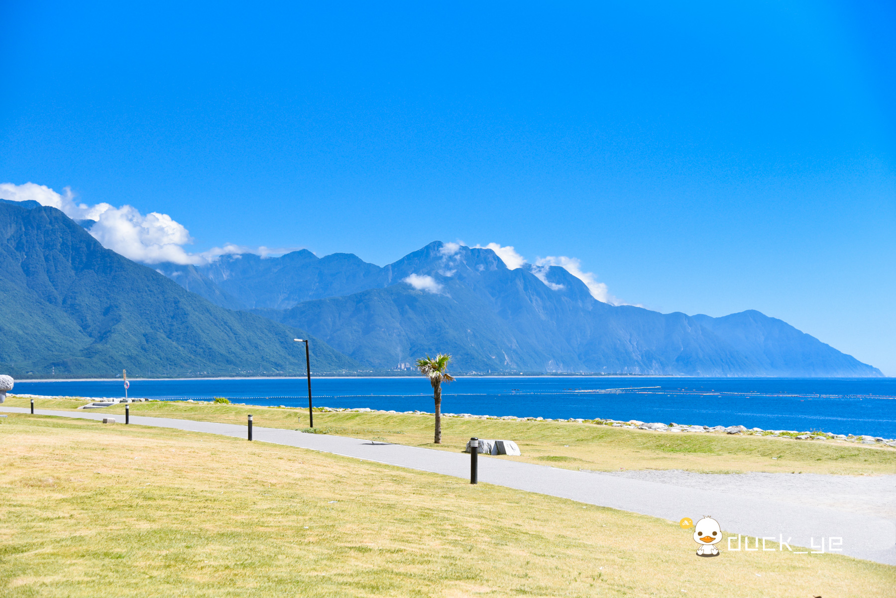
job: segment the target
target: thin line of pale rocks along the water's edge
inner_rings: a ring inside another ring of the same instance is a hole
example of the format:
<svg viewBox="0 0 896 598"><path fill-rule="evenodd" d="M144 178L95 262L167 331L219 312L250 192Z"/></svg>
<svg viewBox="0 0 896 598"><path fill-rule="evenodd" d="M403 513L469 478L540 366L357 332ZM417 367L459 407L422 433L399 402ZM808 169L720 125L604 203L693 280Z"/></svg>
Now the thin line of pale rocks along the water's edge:
<svg viewBox="0 0 896 598"><path fill-rule="evenodd" d="M124 403L124 398L108 398L108 397L47 397L42 395L10 395L10 397L22 398L81 398L85 401L95 401L108 403L108 406L115 403ZM154 401L159 399L147 398L130 398L126 402ZM174 399L184 403L211 403L212 401L203 399ZM249 403L233 403L239 406L256 406ZM103 405L107 406L107 405ZM262 406L262 405L258 405ZM280 409L305 409L306 407L288 407L285 405L274 406ZM435 415L426 411L394 411L383 409L371 409L370 407L314 407L314 411L321 413L376 413L376 414L405 414L405 415ZM797 430L762 430L762 428L746 428L742 425L732 426L706 426L685 423L644 423L638 420L629 420L623 422L613 419L551 419L545 417L518 417L516 415L476 415L476 414L442 414L443 417L461 417L465 419L480 420L501 420L504 422L566 422L566 423L592 423L595 425L606 425L614 428L628 428L647 431L659 431L668 433L716 433L716 434L742 434L745 436L771 436L773 438L791 439L791 440L838 440L841 442L855 442L857 444L887 446L896 449L896 439L882 438L880 436L868 436L867 434L832 434L826 431L797 431Z"/></svg>

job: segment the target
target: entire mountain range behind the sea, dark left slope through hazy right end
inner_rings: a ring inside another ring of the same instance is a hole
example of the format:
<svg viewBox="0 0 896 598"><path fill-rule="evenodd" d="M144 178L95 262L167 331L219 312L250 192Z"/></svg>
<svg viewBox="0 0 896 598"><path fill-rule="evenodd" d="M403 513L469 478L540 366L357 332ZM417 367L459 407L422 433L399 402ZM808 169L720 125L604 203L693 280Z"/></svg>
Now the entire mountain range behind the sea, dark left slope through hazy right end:
<svg viewBox="0 0 896 598"><path fill-rule="evenodd" d="M450 353L454 372L880 376L760 312L722 318L595 299L564 268L509 269L429 243L384 267L349 253L224 255L147 266L55 208L0 201L0 368L106 377L394 372ZM176 284L177 283L177 284Z"/></svg>

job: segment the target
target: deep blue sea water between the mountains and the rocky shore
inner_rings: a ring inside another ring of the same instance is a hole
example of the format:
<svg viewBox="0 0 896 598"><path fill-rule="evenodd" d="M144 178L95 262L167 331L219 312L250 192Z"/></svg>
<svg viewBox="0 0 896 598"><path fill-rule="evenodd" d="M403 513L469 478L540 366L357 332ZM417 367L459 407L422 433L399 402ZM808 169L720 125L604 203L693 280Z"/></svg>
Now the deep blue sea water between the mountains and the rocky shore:
<svg viewBox="0 0 896 598"><path fill-rule="evenodd" d="M121 380L15 383L33 395L123 397ZM314 406L433 411L422 377L313 378ZM132 380L130 397L307 406L306 380ZM896 437L896 379L495 377L444 386L445 413L609 418Z"/></svg>

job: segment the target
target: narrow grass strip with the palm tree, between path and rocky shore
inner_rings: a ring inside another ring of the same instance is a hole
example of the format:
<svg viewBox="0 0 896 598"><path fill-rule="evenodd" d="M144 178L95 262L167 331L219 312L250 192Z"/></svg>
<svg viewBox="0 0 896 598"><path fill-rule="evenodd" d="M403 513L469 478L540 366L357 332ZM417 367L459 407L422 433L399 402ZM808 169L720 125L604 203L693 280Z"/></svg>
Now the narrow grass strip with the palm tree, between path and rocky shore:
<svg viewBox="0 0 896 598"><path fill-rule="evenodd" d="M75 409L83 399L37 399L42 409ZM9 406L29 399L9 397ZM124 406L95 413L123 416ZM131 406L132 415L246 423L271 428L306 428L307 410L152 401ZM762 436L626 430L591 423L507 422L443 418L443 444L433 444L431 415L314 413L318 431L386 440L397 444L462 450L471 436L515 440L522 457L508 458L568 469L685 469L702 473L785 472L896 474L896 449L834 441L785 440Z"/></svg>

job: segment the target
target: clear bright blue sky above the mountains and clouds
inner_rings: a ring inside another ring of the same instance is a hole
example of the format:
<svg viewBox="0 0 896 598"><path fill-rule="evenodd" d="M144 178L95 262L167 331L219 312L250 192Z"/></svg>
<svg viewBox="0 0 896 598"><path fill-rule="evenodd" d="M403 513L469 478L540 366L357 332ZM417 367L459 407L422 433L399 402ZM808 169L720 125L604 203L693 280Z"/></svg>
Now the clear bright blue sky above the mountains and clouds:
<svg viewBox="0 0 896 598"><path fill-rule="evenodd" d="M570 256L896 375L885 2L0 4L0 183L384 264Z"/></svg>

